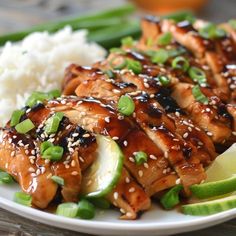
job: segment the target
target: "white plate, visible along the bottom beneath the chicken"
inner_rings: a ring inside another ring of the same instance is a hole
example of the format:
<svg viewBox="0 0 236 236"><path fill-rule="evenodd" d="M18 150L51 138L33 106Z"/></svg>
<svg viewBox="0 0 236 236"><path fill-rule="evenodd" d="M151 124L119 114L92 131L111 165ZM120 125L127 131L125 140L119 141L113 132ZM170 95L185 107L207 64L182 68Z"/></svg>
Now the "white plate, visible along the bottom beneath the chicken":
<svg viewBox="0 0 236 236"><path fill-rule="evenodd" d="M14 203L12 199L16 191L20 191L17 185L1 185L0 207L41 223L95 235L170 235L216 225L236 216L236 209L207 217L193 217L153 206L135 221L119 220L120 214L115 210L98 210L93 220L70 219Z"/></svg>

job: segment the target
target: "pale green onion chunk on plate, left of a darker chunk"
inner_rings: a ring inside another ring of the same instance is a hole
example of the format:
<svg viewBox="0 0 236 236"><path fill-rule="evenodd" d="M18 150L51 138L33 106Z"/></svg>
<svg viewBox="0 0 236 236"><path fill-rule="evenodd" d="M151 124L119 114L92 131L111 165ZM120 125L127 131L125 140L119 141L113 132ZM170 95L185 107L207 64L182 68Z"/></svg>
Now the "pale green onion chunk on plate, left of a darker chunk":
<svg viewBox="0 0 236 236"><path fill-rule="evenodd" d="M65 202L58 205L56 214L69 218L75 218L78 213L78 204L73 202Z"/></svg>

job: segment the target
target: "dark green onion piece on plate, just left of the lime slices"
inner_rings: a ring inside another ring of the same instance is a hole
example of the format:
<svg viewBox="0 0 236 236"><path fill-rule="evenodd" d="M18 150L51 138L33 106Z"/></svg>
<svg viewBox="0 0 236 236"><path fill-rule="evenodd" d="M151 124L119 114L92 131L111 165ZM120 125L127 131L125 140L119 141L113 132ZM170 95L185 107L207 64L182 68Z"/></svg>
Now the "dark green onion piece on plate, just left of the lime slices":
<svg viewBox="0 0 236 236"><path fill-rule="evenodd" d="M161 197L162 206L170 210L179 204L179 192L183 189L182 185L176 185Z"/></svg>

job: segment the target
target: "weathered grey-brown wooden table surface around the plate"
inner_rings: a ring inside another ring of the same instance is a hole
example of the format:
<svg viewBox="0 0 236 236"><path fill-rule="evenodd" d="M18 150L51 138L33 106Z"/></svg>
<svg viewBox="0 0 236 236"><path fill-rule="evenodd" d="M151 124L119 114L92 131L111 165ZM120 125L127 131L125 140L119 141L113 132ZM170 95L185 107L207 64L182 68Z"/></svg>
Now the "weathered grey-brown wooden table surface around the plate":
<svg viewBox="0 0 236 236"><path fill-rule="evenodd" d="M79 15L121 5L125 0L1 0L0 34L27 28L31 25L57 20L65 16ZM200 17L215 22L235 18L236 0L209 0L200 12ZM68 230L57 229L9 213L0 209L0 236L83 236ZM236 220L179 236L233 236L236 235Z"/></svg>

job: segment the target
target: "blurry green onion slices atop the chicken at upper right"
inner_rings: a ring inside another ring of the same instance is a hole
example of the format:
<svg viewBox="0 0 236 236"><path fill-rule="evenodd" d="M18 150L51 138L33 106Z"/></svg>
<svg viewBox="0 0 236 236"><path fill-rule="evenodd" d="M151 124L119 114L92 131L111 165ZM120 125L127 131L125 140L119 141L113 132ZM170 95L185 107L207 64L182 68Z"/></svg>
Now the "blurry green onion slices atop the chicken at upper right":
<svg viewBox="0 0 236 236"><path fill-rule="evenodd" d="M217 27L217 25L213 23L209 23L199 29L199 34L206 39L222 38L226 36L225 30Z"/></svg>

